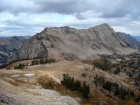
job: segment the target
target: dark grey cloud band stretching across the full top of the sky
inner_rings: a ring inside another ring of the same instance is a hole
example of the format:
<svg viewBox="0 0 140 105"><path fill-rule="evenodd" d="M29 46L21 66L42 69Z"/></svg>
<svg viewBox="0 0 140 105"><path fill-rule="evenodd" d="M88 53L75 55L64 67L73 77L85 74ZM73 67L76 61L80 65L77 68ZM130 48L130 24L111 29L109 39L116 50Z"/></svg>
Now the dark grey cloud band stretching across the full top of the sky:
<svg viewBox="0 0 140 105"><path fill-rule="evenodd" d="M58 13L75 14L84 19L80 13L88 10L102 12L104 18L124 17L133 14L132 18L140 14L140 0L0 0L0 11L9 11L17 14L25 13Z"/></svg>

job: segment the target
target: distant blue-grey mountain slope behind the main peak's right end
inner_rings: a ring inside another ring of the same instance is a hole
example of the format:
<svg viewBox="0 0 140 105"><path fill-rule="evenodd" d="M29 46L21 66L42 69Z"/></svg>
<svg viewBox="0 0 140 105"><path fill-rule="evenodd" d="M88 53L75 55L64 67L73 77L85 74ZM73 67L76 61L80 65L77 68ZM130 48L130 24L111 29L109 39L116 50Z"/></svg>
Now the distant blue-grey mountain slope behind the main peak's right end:
<svg viewBox="0 0 140 105"><path fill-rule="evenodd" d="M121 32L116 32L123 40L125 40L131 47L140 49L140 42L133 38L131 35Z"/></svg>

